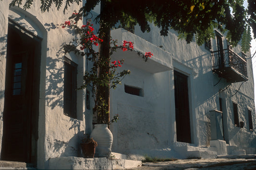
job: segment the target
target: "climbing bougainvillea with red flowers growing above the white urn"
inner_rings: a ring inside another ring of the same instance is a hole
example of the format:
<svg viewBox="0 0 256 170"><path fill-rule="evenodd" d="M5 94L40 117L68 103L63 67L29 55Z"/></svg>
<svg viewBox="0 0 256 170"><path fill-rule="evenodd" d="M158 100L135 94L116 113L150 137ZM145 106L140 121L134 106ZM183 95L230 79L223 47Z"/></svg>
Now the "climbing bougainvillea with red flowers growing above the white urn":
<svg viewBox="0 0 256 170"><path fill-rule="evenodd" d="M77 15L73 12L73 15ZM92 67L89 71L85 71L84 83L79 89L90 87L94 97L93 112L98 115L98 124L109 124L116 121L118 116L109 120L109 103L106 102L104 96L99 91L102 89L115 89L118 84L121 84L122 79L130 74L130 70L118 71L117 68L121 68L124 62L123 59L111 60L111 55L118 49L125 51L133 51L134 44L132 42L123 41L122 45L117 45L117 40L110 40L110 54L108 57L99 57L99 52L95 51L94 46L98 46L103 42L103 39L94 34L93 24L87 22L87 24L79 27L76 21L69 20L61 24L62 28L72 29L78 36L73 39L72 42L63 45L65 53L74 52L86 58L92 63ZM153 56L152 53L137 52L146 61L148 57ZM106 68L105 72L99 72L100 68Z"/></svg>

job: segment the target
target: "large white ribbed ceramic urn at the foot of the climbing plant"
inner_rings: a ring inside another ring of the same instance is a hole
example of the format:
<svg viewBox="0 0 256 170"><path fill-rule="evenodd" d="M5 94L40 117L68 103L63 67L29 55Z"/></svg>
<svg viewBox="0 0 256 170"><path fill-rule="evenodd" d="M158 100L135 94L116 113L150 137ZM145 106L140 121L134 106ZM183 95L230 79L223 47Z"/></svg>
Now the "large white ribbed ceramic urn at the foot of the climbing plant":
<svg viewBox="0 0 256 170"><path fill-rule="evenodd" d="M113 135L107 124L95 125L91 136L97 143L95 157L110 157Z"/></svg>

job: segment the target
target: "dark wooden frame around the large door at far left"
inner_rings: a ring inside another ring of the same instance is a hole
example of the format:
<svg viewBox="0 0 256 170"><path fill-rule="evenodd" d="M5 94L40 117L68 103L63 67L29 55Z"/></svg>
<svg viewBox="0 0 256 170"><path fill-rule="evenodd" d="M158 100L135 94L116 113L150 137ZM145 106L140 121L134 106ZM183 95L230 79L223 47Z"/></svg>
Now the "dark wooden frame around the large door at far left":
<svg viewBox="0 0 256 170"><path fill-rule="evenodd" d="M34 51L35 53L33 54L33 61L31 64L31 67L33 67L35 69L35 71L33 71L32 75L32 96L30 97L30 100L33 101L33 106L30 108L30 114L31 114L31 120L30 121L30 127L31 129L29 130L30 132L28 133L29 135L27 137L29 137L29 141L30 144L28 144L28 151L29 151L29 160L27 163L32 163L33 166L37 166L37 141L38 141L38 118L39 118L39 91L40 91L40 72L41 72L41 48L42 48L42 38L37 36L36 34L34 34L33 32L27 30L25 27L21 26L19 23L15 22L14 20L12 20L11 18L8 18L8 29L12 29L15 32L18 32L18 34L26 34L27 36L33 38L32 43L35 43L35 48ZM24 40L23 40L24 41ZM7 40L8 42L8 40ZM8 44L7 44L8 46ZM8 50L8 49L7 49ZM10 49L9 49L10 50ZM10 53L8 53L10 55ZM12 68L7 68L7 67L12 67L12 60L8 62L8 56L6 57L6 70L9 70L6 72L6 79L10 79L7 78L8 76L12 76ZM29 69L28 69L29 71ZM8 74L8 75L7 75ZM10 80L9 80L10 81ZM5 87L6 89L7 87ZM12 88L10 88L12 89ZM10 95L10 94L6 94L5 95ZM6 99L6 98L5 98ZM35 102L34 102L35 101ZM6 106L6 100L5 100L5 104L4 107ZM4 109L5 111L5 109ZM4 112L5 113L5 112ZM4 115L3 113L3 115ZM28 115L30 115L28 114ZM4 122L3 122L4 124ZM6 129L3 129L3 135L4 135L4 131L7 131ZM4 140L4 136L3 136L3 140ZM2 142L3 145L3 142ZM3 147L1 147L3 149ZM1 150L1 156L2 156L2 150ZM1 157L2 159L2 157Z"/></svg>

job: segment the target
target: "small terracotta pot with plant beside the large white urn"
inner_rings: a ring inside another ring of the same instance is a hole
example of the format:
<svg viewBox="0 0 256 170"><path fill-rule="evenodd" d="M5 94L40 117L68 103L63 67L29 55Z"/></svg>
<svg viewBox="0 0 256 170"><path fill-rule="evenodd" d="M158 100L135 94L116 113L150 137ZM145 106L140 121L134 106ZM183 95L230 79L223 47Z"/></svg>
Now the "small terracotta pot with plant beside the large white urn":
<svg viewBox="0 0 256 170"><path fill-rule="evenodd" d="M82 154L84 158L94 158L95 148L98 146L98 143L90 138L88 134L82 138L82 143L80 144L82 148Z"/></svg>

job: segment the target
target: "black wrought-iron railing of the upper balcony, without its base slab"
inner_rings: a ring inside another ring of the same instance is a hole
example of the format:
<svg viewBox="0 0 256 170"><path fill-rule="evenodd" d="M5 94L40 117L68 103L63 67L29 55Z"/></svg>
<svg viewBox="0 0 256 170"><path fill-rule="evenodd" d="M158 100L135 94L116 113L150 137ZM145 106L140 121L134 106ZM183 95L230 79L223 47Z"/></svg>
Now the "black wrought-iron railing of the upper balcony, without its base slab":
<svg viewBox="0 0 256 170"><path fill-rule="evenodd" d="M247 77L247 62L246 58L238 56L231 49L224 49L223 51L213 51L211 53L213 58L213 70L221 70L225 68L233 68L244 77Z"/></svg>

